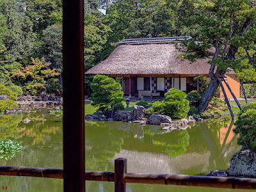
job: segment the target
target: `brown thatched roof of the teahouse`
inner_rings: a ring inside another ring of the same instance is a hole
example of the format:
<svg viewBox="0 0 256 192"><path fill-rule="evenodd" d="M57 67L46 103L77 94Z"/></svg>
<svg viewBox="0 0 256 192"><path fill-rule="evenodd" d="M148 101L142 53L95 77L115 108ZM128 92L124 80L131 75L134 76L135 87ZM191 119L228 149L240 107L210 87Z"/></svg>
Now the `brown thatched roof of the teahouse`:
<svg viewBox="0 0 256 192"><path fill-rule="evenodd" d="M127 42L118 45L106 60L90 68L86 74L209 74L209 59L191 63L178 58L182 52L175 49L170 40Z"/></svg>

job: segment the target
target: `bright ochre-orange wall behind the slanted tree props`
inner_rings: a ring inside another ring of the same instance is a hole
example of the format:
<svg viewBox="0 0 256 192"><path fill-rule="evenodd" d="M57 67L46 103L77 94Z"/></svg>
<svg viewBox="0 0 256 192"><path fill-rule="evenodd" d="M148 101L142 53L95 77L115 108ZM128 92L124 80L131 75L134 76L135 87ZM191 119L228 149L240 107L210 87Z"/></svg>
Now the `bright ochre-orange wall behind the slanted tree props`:
<svg viewBox="0 0 256 192"><path fill-rule="evenodd" d="M225 76L227 77L227 83L229 84L229 86L232 89L233 93L235 94L236 98L240 98L240 80L237 79L236 75L227 75L226 74ZM224 81L222 81L222 84L224 86L225 92L227 93L227 97L233 98ZM220 92L220 98L221 99L224 98L222 90Z"/></svg>

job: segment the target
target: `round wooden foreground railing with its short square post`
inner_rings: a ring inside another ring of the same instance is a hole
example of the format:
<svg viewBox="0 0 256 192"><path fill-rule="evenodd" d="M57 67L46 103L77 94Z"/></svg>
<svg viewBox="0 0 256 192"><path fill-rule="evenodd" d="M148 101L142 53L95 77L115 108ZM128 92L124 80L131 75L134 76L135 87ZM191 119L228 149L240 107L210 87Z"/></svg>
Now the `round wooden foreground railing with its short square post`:
<svg viewBox="0 0 256 192"><path fill-rule="evenodd" d="M63 170L25 166L0 166L0 175L47 177L63 179ZM208 188L256 189L256 179L127 173L127 160L115 159L115 173L85 171L85 180L115 182L115 191L127 191L127 183L201 186Z"/></svg>

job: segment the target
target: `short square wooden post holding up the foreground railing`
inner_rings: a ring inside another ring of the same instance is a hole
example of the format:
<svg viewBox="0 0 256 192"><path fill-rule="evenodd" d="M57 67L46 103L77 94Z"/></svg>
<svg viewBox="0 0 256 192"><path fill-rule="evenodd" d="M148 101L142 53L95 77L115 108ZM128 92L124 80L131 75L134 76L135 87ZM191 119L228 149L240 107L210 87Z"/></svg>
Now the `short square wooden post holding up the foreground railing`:
<svg viewBox="0 0 256 192"><path fill-rule="evenodd" d="M115 192L126 192L127 186L124 182L124 174L127 172L127 159L115 159Z"/></svg>

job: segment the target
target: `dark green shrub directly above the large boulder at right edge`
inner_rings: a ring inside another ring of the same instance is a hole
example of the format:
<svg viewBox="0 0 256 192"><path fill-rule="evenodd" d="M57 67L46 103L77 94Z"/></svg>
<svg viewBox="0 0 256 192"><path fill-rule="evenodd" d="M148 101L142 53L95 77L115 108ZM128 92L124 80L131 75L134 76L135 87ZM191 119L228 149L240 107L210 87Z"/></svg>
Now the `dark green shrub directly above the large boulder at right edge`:
<svg viewBox="0 0 256 192"><path fill-rule="evenodd" d="M239 133L237 143L256 150L256 104L245 104L235 125L234 132Z"/></svg>

